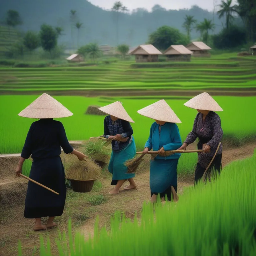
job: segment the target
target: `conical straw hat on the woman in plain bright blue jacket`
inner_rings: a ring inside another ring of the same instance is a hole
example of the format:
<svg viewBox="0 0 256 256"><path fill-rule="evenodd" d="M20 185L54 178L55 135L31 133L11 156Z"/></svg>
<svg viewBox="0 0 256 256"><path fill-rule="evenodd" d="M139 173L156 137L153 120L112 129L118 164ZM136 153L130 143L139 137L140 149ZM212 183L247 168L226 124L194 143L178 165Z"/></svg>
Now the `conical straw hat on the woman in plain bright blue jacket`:
<svg viewBox="0 0 256 256"><path fill-rule="evenodd" d="M178 116L165 100L159 100L141 110L138 110L137 112L154 120L168 123L181 123Z"/></svg>

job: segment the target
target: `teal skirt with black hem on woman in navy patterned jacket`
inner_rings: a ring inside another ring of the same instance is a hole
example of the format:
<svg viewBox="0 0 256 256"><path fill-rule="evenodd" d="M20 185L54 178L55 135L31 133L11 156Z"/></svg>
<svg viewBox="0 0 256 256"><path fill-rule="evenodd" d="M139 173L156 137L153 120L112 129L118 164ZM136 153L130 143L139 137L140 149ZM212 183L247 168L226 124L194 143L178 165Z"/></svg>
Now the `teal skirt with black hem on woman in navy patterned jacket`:
<svg viewBox="0 0 256 256"><path fill-rule="evenodd" d="M121 151L112 151L108 170L112 173L111 185L116 185L118 180L130 179L135 177L135 173L127 173L128 169L124 163L134 158L136 155L136 146L134 138L132 141Z"/></svg>

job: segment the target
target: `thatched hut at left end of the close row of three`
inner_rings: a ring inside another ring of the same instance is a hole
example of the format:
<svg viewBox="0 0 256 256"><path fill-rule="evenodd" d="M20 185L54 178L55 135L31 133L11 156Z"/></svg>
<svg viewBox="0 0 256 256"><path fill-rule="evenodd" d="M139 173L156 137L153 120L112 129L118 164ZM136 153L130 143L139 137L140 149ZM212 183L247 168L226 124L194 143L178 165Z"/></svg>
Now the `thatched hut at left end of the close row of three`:
<svg viewBox="0 0 256 256"><path fill-rule="evenodd" d="M136 62L157 62L158 55L162 55L162 52L153 45L139 45L130 51L129 54L135 55Z"/></svg>

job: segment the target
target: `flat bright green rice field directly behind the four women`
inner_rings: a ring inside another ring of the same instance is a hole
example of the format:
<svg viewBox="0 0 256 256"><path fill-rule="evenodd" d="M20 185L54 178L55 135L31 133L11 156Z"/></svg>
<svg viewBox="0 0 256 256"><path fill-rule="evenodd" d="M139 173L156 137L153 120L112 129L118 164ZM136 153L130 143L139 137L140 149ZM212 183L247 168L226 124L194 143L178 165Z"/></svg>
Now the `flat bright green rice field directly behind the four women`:
<svg viewBox="0 0 256 256"><path fill-rule="evenodd" d="M34 101L39 95L2 95L0 113L5 120L0 124L1 139L0 153L20 153L25 142L26 134L33 119L22 118L17 114L27 105ZM149 136L149 130L154 120L139 115L136 111L152 104L165 97L153 97L148 99L128 97L128 98L84 98L78 96L57 96L55 97L64 106L66 106L74 115L68 118L59 119L67 133L70 141L88 140L90 137L100 136L103 134L104 116L84 114L89 105L104 106L114 101L120 100L123 106L135 121L132 124L134 138L137 150L144 148L145 142ZM246 141L255 139L256 128L255 118L250 118L249 110L255 106L256 97L214 97L222 106L223 112L220 112L222 129L224 132L223 145L225 147L239 146ZM166 98L165 98L166 99ZM166 99L174 112L178 115L181 124L178 124L180 135L184 141L187 134L191 131L196 110L187 108L183 104L187 99ZM8 112L5 106L9 106ZM235 114L234 114L235 113ZM238 122L239 120L239 122ZM246 125L242 125L246 123ZM233 124L233 125L231 125ZM223 141L222 140L222 141ZM178 174L193 174L194 166L197 161L197 154L183 154L178 164Z"/></svg>

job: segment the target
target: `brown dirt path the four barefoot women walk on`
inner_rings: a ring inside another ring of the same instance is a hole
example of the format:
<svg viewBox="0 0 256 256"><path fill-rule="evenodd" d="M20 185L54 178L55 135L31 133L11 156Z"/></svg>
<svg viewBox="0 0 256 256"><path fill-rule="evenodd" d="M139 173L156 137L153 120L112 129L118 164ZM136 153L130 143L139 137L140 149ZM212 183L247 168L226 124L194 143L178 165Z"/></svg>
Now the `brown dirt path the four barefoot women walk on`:
<svg viewBox="0 0 256 256"><path fill-rule="evenodd" d="M240 148L223 150L223 166L234 160L251 156L253 154L255 146L255 143L251 143L244 145ZM89 212L88 217L86 217L86 219L81 222L82 224L74 226L74 222L72 222L73 231L77 230L79 232L82 232L85 238L88 239L89 237L93 237L94 223L97 216L99 216L99 227L102 228L106 226L107 228L109 228L111 216L113 216L113 213L115 211L125 211L126 217L132 219L134 217L135 211L140 212L140 210L142 209L143 202L150 199L149 172L147 170L141 173L136 173L135 182L138 187L131 191L121 190L118 195L110 195L108 194L112 187L110 186L110 182L110 176L104 180L101 180L102 189L99 193L105 198L106 201L104 203L97 206L92 206L89 202L80 204L79 199L75 201L70 201L67 197L64 213L56 220L57 222L59 222L59 229L47 230L40 233L44 237L46 237L46 235L49 235L50 239L53 242L54 239L58 237L59 230L61 232L67 232L67 221L71 217L69 207L71 206L75 208L75 210L78 212L77 214L84 214L85 212ZM127 182L123 186L126 185ZM193 186L193 184L178 181L178 194L181 195L184 189L188 186ZM17 190L19 196L18 204L15 204L12 207L8 208L7 213L5 211L4 215L0 215L0 242L3 245L3 248L1 248L2 254L0 254L3 256L16 254L14 250L16 250L18 239L22 240L24 256L32 255L32 251L36 247L38 247L39 233L31 231L31 227L33 226L33 220L25 219L23 217L26 187L27 181L25 179L23 180L22 178L15 179L14 177L9 176L5 177L5 180L1 179L0 194L1 192L3 192L5 193L6 197L9 197L8 193L12 193L15 188L19 189ZM4 191L4 189L6 190ZM90 195L93 195L93 192L89 193L91 193ZM80 194L79 196L80 198L83 198L87 195ZM90 211L89 209L92 208L94 210ZM13 232L14 230L15 232ZM38 249L35 255L39 255Z"/></svg>

